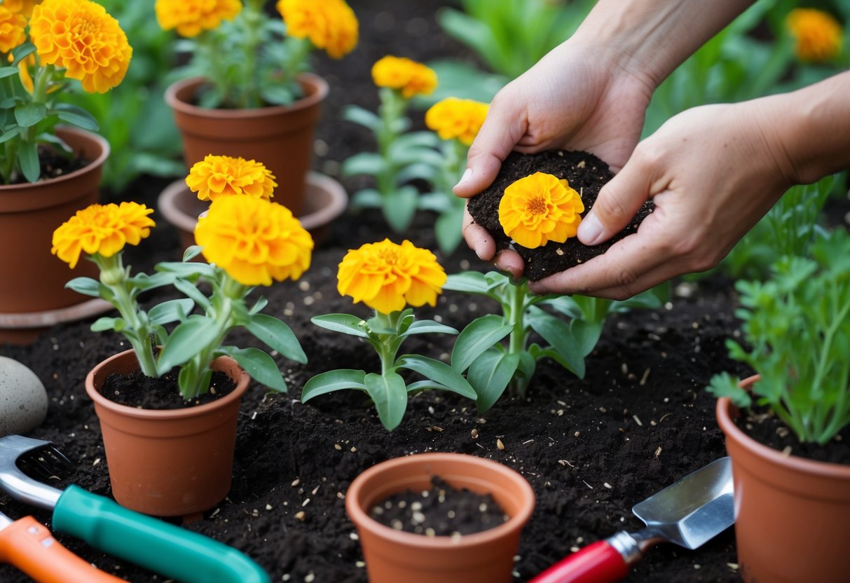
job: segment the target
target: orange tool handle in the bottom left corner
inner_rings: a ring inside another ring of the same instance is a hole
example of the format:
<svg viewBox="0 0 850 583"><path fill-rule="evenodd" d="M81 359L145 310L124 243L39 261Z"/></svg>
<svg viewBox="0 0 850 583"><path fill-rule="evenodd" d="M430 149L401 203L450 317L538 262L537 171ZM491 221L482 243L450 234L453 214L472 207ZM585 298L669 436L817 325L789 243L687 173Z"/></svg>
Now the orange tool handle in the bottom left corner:
<svg viewBox="0 0 850 583"><path fill-rule="evenodd" d="M0 561L10 563L38 583L123 583L77 557L31 516L0 530Z"/></svg>

